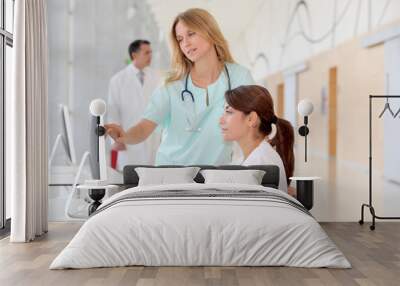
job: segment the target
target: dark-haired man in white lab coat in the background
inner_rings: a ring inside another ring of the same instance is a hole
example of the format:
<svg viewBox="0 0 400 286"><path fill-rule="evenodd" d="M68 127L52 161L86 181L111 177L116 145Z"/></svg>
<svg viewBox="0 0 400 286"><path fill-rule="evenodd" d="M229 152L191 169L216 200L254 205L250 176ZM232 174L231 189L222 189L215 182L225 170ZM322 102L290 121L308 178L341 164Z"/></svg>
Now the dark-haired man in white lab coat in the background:
<svg viewBox="0 0 400 286"><path fill-rule="evenodd" d="M132 63L111 78L107 108L107 121L118 123L125 130L140 121L161 80L159 73L149 67L152 57L149 41L132 42L128 52ZM158 134L137 145L114 142L111 149L118 151L117 169L122 170L127 164L154 164L159 142Z"/></svg>

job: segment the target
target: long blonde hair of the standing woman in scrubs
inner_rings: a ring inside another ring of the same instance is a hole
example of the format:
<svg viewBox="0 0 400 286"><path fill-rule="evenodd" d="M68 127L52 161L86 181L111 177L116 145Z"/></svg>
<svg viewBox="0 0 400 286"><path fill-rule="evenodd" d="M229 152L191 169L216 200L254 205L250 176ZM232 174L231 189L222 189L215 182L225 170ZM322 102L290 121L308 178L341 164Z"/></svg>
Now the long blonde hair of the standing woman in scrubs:
<svg viewBox="0 0 400 286"><path fill-rule="evenodd" d="M221 63L234 62L229 51L228 42L222 35L214 17L204 9L192 8L178 14L172 24L170 33L170 41L172 45L171 71L167 75L165 80L166 83L180 80L184 75L189 73L190 68L193 65L193 63L182 53L178 40L176 39L175 27L178 22L182 22L189 29L199 33L205 39L210 41L214 45L218 59Z"/></svg>

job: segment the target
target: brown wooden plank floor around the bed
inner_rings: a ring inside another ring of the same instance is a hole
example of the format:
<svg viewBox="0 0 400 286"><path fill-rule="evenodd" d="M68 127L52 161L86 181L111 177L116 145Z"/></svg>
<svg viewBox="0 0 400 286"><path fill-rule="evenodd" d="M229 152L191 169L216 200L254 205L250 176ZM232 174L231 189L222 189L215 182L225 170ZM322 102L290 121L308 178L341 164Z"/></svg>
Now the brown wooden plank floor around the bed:
<svg viewBox="0 0 400 286"><path fill-rule="evenodd" d="M400 285L400 223L323 223L353 268L121 267L48 270L80 224L51 223L27 244L0 241L0 285Z"/></svg>

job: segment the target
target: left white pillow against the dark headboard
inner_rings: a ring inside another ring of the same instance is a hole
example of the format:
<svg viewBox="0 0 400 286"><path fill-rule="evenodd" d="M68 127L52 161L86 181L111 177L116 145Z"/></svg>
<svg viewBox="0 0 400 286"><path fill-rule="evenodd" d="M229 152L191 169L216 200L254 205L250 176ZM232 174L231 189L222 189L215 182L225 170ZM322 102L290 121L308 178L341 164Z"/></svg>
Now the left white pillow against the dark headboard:
<svg viewBox="0 0 400 286"><path fill-rule="evenodd" d="M139 186L195 183L193 179L199 170L199 167L135 168Z"/></svg>

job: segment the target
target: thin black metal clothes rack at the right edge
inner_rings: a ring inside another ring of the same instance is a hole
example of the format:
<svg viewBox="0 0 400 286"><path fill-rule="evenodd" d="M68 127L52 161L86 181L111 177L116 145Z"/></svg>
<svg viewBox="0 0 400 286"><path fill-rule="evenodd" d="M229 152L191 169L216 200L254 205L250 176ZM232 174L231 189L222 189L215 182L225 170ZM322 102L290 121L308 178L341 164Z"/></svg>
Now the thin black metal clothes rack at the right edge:
<svg viewBox="0 0 400 286"><path fill-rule="evenodd" d="M364 207L369 208L372 215L372 225L370 229L375 229L375 219L400 219L400 217L384 217L378 216L375 213L375 208L372 205L372 100L373 99L386 99L389 98L400 98L400 95L370 95L369 96L369 203L362 204L361 206L361 219L358 221L359 224L364 224ZM396 113L397 115L398 113ZM399 119L400 120L400 119Z"/></svg>

